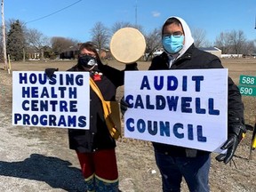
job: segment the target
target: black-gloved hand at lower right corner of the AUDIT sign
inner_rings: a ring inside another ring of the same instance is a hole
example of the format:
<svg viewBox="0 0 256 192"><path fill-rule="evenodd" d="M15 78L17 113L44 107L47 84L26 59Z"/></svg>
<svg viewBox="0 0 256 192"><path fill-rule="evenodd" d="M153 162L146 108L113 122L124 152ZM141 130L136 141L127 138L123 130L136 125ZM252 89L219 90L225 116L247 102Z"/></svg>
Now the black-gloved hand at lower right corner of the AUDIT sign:
<svg viewBox="0 0 256 192"><path fill-rule="evenodd" d="M220 154L216 156L216 160L221 162L223 161L224 164L228 164L228 162L232 159L235 155L236 148L239 142L243 139L243 133L246 132L244 124L234 124L230 129L230 133L228 134L228 140L224 143L221 149L226 150L226 154Z"/></svg>

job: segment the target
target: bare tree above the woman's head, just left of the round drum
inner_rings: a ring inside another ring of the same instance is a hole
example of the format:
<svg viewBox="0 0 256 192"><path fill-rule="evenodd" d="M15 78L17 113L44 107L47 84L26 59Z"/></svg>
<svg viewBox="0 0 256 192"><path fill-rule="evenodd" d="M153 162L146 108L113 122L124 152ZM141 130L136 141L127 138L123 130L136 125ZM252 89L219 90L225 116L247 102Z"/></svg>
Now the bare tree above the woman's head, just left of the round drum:
<svg viewBox="0 0 256 192"><path fill-rule="evenodd" d="M92 42L97 46L99 52L102 48L108 46L109 42L109 29L103 25L102 22L95 23L91 30Z"/></svg>

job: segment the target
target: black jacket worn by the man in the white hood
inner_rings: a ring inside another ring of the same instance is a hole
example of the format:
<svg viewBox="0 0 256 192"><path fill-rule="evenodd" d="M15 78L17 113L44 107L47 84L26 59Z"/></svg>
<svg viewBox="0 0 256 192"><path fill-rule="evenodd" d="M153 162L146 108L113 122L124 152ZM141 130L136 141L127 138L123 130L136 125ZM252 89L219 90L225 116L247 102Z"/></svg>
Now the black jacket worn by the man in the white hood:
<svg viewBox="0 0 256 192"><path fill-rule="evenodd" d="M156 56L152 60L149 70L167 70L167 69L195 69L195 68L223 68L220 59L209 52L203 52L192 44L187 52L172 63L169 68L168 56L165 52ZM211 85L210 85L211 86ZM232 124L244 124L244 105L241 100L241 94L236 84L228 77L228 132ZM168 152L173 156L186 156L185 148L172 145L153 142L157 151ZM197 154L209 153L197 150Z"/></svg>

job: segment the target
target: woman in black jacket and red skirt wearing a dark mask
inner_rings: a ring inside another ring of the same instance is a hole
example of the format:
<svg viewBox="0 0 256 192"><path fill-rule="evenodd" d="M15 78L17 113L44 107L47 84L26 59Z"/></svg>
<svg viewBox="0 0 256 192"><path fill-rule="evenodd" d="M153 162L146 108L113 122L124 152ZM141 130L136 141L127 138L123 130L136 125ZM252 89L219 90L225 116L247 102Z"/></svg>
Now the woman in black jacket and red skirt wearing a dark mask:
<svg viewBox="0 0 256 192"><path fill-rule="evenodd" d="M137 64L129 69L137 69ZM79 59L68 71L90 72L104 100L116 100L116 88L124 84L124 70L103 65L91 43L81 44ZM90 130L68 130L69 148L76 150L88 191L118 191L116 141L110 136L101 100L90 89Z"/></svg>

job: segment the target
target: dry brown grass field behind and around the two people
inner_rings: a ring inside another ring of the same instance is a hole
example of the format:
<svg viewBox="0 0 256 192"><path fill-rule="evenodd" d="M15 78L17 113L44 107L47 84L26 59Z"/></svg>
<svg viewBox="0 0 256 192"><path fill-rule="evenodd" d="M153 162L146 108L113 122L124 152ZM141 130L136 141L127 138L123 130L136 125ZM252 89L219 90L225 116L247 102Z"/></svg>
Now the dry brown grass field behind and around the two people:
<svg viewBox="0 0 256 192"><path fill-rule="evenodd" d="M116 60L104 61L108 65L115 68L123 69L124 64L116 62ZM150 62L140 61L140 70L147 70ZM59 68L60 71L65 71L76 64L76 60L69 61L29 61L29 62L12 62L12 70L29 70L29 71L44 71L44 68ZM232 77L234 82L238 84L240 75L256 76L256 60L254 59L238 59L238 60L222 60L225 68L228 68L228 74ZM6 71L0 70L1 78L1 112L10 116L12 113L10 106L12 106L12 76L8 75ZM117 99L123 96L124 87L118 89ZM254 117L256 116L256 98L243 96L244 101L244 118L246 124L254 124ZM45 131L45 130L44 130ZM44 133L42 130L35 131L41 134L40 137L49 137L52 135L63 136L61 131L51 131L51 135ZM35 134L33 132L33 134ZM40 132L40 133L39 133ZM31 132L28 132L31 134ZM33 135L35 137L35 135ZM65 135L66 137L66 135ZM60 137L61 138L61 137ZM246 134L245 139L237 148L236 167L232 163L230 166L220 164L215 161L214 154L212 154L212 169L210 173L210 186L213 192L240 192L240 191L256 191L256 154L252 152L252 161L248 161L252 132ZM62 139L63 140L63 139ZM67 141L67 139L66 139ZM63 151L68 150L64 141L58 140L63 145ZM61 143L63 142L63 143ZM156 168L153 149L150 142L142 140L121 139L117 141L116 155L118 160L118 168L120 173L121 189L129 191L161 191L160 174ZM65 159L65 152L60 154L60 157ZM156 174L151 171L156 170ZM125 183L127 186L125 186ZM127 184L128 183L128 184ZM130 187L129 187L130 186ZM183 183L182 188L187 191L188 188Z"/></svg>

